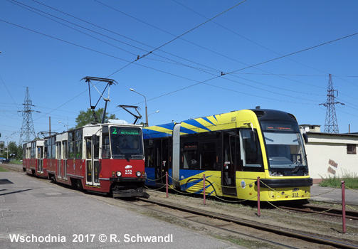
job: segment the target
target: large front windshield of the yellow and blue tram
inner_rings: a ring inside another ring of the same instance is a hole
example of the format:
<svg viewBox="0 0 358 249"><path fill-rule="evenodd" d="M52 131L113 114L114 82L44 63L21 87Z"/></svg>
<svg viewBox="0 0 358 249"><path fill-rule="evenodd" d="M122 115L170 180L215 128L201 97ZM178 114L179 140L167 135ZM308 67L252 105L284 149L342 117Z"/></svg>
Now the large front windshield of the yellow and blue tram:
<svg viewBox="0 0 358 249"><path fill-rule="evenodd" d="M261 122L270 173L302 175L307 171L300 129L295 123ZM282 169L282 170L278 170Z"/></svg>

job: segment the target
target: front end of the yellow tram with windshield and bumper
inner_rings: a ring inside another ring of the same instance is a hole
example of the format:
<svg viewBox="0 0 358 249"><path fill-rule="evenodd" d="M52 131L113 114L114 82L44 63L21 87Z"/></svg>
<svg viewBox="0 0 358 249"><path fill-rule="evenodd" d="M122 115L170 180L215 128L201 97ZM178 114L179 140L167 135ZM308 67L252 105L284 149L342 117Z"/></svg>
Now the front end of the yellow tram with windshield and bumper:
<svg viewBox="0 0 358 249"><path fill-rule="evenodd" d="M261 155L252 157L255 138L243 142L243 167L263 165L261 174L251 172L246 179L260 177L260 200L290 201L310 198L312 179L309 176L304 139L298 127L295 116L287 112L275 110L252 110L258 119L256 127ZM256 135L255 135L256 136ZM242 138L244 139L244 138ZM259 159L262 158L263 162ZM251 164L251 165L250 165ZM240 175L240 174L238 174ZM240 177L238 177L240 178ZM240 180L239 180L240 181ZM246 181L241 179L238 186L246 187ZM249 185L250 186L250 185ZM253 184L251 184L253 186ZM255 181L258 190L258 180ZM246 191L243 191L246 192ZM248 198L252 193L248 192ZM241 197L242 198L242 197Z"/></svg>

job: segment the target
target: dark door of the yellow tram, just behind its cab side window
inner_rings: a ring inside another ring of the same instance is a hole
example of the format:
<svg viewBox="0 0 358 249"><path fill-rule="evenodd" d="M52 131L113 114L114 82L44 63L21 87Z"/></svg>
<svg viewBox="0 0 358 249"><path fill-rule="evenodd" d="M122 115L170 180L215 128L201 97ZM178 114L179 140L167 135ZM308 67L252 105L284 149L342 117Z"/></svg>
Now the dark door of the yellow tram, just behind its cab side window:
<svg viewBox="0 0 358 249"><path fill-rule="evenodd" d="M236 196L236 164L239 161L239 142L236 132L223 132L223 167L221 170L221 184L223 194Z"/></svg>

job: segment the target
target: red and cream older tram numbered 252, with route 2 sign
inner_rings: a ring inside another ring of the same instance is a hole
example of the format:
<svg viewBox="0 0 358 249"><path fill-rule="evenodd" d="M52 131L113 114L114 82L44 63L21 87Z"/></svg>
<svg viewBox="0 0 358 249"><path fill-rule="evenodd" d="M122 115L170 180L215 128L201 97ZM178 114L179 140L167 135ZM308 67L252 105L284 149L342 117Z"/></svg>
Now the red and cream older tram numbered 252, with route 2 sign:
<svg viewBox="0 0 358 249"><path fill-rule="evenodd" d="M88 124L23 144L23 171L113 197L149 197L141 125Z"/></svg>

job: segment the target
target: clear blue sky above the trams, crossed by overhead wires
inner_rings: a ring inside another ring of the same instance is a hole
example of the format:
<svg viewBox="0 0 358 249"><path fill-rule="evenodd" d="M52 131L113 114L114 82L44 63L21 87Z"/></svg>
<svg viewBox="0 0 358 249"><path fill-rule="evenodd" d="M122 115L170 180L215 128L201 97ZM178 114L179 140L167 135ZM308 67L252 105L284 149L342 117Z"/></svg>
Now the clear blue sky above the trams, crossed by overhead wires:
<svg viewBox="0 0 358 249"><path fill-rule="evenodd" d="M358 1L240 2L1 0L0 141L19 142L26 87L36 134L74 127L85 76L116 80L107 111L128 122L134 88L149 125L260 106L323 131L332 74L339 132L358 132Z"/></svg>

